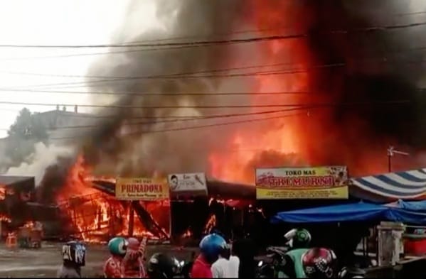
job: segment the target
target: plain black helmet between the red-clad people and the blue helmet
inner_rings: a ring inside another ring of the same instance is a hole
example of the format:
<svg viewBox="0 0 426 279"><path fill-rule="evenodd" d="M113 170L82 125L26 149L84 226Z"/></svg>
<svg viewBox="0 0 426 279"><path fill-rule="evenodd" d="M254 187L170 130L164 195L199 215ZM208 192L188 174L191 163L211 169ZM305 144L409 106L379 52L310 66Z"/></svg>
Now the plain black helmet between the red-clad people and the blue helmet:
<svg viewBox="0 0 426 279"><path fill-rule="evenodd" d="M147 265L149 278L173 278L177 272L175 260L166 253L154 253Z"/></svg>

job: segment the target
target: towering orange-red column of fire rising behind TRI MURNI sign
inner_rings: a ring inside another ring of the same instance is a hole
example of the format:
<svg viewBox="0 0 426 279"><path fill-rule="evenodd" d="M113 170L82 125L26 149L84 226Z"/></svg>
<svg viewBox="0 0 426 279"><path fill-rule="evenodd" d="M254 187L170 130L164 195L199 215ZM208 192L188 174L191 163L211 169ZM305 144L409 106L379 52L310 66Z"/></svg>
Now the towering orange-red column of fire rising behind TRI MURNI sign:
<svg viewBox="0 0 426 279"><path fill-rule="evenodd" d="M254 7L250 21L257 30L262 31L262 36L299 34L309 32L312 27L312 11L300 8L303 5L295 4L296 2L251 3ZM324 65L324 61L318 58L314 46L307 38L267 40L255 47L257 49L254 53L261 55L262 62L259 64L282 63L282 66L271 68L270 71L284 73L253 77L252 84L255 85L252 91L285 94L251 95L251 104L309 106L332 104L344 99L342 96L345 92L341 89L334 92L331 86L330 89L316 86L320 70L315 68ZM331 81L333 79L332 74L330 77L326 74L324 76ZM255 111L260 109L252 109L252 112ZM346 118L345 124L336 121L336 109L333 106L311 106L309 109L299 107L273 116L277 116L277 119L271 119L271 114L261 114L255 117L265 118L259 124L235 126L233 136L224 146L230 151L213 151L209 157L211 175L222 180L252 184L255 180L255 168L339 164L348 165L352 175L387 170L386 148L392 138L374 138L374 131L369 131L368 124L356 114Z"/></svg>

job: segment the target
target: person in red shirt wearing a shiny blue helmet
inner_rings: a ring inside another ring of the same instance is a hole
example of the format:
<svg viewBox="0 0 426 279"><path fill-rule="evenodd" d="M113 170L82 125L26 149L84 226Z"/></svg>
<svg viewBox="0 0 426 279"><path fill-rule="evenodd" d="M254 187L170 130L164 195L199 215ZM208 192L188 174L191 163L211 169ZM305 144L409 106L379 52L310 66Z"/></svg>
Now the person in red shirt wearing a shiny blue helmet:
<svg viewBox="0 0 426 279"><path fill-rule="evenodd" d="M200 242L200 255L194 261L191 269L191 278L213 278L211 265L221 251L226 248L226 241L218 234L208 234Z"/></svg>

